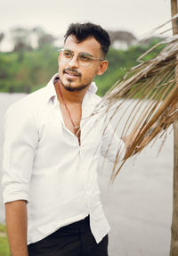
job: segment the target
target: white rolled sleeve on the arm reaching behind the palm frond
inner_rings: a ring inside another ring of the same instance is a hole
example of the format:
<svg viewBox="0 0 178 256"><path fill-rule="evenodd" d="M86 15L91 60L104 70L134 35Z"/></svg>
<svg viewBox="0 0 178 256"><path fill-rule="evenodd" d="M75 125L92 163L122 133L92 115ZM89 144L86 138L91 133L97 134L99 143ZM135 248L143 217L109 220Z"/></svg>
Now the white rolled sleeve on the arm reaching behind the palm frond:
<svg viewBox="0 0 178 256"><path fill-rule="evenodd" d="M112 126L109 124L106 128L101 144L101 154L107 157L108 161L117 162L123 161L125 157L125 143L114 132Z"/></svg>

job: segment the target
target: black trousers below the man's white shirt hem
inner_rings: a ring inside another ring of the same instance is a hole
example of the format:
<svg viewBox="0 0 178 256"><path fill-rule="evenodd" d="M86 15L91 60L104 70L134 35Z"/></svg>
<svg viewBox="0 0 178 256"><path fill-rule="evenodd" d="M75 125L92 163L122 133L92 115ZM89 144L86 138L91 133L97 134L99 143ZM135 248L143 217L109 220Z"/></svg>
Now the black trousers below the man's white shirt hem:
<svg viewBox="0 0 178 256"><path fill-rule="evenodd" d="M108 256L108 235L97 244L87 217L29 244L28 256Z"/></svg>

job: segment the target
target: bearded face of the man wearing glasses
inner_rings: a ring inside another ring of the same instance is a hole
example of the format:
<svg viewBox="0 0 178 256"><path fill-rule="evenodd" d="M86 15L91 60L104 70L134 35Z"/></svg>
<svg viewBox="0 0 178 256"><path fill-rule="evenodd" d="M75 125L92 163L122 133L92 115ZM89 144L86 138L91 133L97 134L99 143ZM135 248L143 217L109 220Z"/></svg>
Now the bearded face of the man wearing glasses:
<svg viewBox="0 0 178 256"><path fill-rule="evenodd" d="M77 43L76 38L69 36L64 44L64 49L72 51L73 58L69 62L61 61L61 53L59 56L59 75L62 85L69 91L78 91L91 84L95 75L101 75L102 70L100 60L93 62L84 67L78 63L78 54L90 54L94 58L102 58L101 45L94 37L88 37L83 42ZM106 64L106 63L105 63ZM108 63L107 63L108 65Z"/></svg>

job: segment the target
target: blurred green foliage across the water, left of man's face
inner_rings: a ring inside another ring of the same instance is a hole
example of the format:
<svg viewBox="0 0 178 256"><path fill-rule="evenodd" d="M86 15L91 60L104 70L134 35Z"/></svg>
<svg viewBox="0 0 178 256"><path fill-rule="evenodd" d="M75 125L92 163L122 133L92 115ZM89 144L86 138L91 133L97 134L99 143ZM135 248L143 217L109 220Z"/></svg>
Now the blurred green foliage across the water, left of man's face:
<svg viewBox="0 0 178 256"><path fill-rule="evenodd" d="M58 69L57 50L45 45L30 52L0 54L0 92L30 93Z"/></svg>

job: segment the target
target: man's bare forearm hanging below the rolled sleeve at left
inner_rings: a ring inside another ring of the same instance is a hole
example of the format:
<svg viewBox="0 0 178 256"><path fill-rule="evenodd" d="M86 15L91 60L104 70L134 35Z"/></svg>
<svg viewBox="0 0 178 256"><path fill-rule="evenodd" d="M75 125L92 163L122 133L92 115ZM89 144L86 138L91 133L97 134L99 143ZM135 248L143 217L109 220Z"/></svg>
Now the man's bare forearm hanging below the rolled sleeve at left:
<svg viewBox="0 0 178 256"><path fill-rule="evenodd" d="M26 203L24 200L5 203L7 236L12 256L28 256Z"/></svg>

